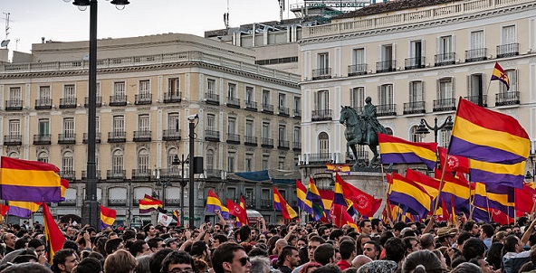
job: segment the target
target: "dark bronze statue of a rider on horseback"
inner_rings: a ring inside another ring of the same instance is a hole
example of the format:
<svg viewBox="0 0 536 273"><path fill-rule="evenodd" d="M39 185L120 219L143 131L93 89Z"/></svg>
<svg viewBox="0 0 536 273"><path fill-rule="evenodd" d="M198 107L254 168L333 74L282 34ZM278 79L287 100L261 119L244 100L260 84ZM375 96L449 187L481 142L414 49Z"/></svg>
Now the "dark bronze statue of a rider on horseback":
<svg viewBox="0 0 536 273"><path fill-rule="evenodd" d="M378 122L376 117L376 106L372 103L372 99L365 99L366 105L363 107L362 113L349 106L340 107L340 124L344 125L344 136L346 137L346 149L351 149L356 163L352 166L355 169L358 164L358 151L356 145L369 146L370 151L374 154L369 162L369 167L372 167L378 159L378 133L387 134L387 130Z"/></svg>

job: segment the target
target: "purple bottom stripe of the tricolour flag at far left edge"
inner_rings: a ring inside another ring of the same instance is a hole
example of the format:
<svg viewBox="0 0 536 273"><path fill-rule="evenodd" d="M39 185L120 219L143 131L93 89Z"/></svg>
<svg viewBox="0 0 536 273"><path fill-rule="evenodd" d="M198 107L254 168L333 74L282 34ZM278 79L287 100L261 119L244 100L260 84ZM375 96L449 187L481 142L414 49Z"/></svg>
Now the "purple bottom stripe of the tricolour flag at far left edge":
<svg viewBox="0 0 536 273"><path fill-rule="evenodd" d="M61 187L1 186L2 199L25 202L61 202Z"/></svg>

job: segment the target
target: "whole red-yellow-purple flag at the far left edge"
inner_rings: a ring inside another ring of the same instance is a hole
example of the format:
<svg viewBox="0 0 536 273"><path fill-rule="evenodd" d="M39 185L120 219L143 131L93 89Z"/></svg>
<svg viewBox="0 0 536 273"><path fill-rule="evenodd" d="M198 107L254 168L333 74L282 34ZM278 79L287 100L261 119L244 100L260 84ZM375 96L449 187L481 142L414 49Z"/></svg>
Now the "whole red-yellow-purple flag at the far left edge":
<svg viewBox="0 0 536 273"><path fill-rule="evenodd" d="M61 202L60 169L55 165L2 156L0 199L25 202Z"/></svg>

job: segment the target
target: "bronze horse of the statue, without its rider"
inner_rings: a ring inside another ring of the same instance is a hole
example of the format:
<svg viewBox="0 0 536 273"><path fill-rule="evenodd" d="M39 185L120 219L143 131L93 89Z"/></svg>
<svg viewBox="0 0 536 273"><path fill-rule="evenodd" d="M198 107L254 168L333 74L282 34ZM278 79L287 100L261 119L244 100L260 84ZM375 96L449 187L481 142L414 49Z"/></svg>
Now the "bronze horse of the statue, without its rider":
<svg viewBox="0 0 536 273"><path fill-rule="evenodd" d="M373 130L368 126L368 121L358 114L356 109L349 106L340 107L340 124L344 125L344 136L346 137L346 149L351 149L356 163L352 166L355 168L358 166L358 151L356 145L369 146L370 151L374 154L372 160L369 162L369 167L375 163L378 159L378 133L387 134L385 127L379 126L379 132L373 132L369 135L369 130ZM367 143L369 136L369 143Z"/></svg>

